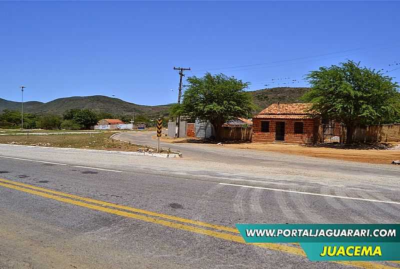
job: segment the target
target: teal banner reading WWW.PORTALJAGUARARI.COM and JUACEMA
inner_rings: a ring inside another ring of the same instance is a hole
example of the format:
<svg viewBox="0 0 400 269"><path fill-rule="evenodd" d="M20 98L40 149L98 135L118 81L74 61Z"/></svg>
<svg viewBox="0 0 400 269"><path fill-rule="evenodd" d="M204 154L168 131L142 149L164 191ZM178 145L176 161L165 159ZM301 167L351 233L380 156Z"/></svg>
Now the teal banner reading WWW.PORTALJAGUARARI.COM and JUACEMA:
<svg viewBox="0 0 400 269"><path fill-rule="evenodd" d="M246 243L300 243L311 261L398 261L400 224L236 224Z"/></svg>

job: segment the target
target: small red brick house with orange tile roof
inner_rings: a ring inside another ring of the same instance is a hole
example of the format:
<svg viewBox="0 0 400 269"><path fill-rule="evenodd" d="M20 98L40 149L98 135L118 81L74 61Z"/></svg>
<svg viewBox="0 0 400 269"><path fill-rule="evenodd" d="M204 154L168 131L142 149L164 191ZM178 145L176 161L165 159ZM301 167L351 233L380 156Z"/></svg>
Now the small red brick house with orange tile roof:
<svg viewBox="0 0 400 269"><path fill-rule="evenodd" d="M253 117L252 141L313 144L320 119L311 104L271 104Z"/></svg>

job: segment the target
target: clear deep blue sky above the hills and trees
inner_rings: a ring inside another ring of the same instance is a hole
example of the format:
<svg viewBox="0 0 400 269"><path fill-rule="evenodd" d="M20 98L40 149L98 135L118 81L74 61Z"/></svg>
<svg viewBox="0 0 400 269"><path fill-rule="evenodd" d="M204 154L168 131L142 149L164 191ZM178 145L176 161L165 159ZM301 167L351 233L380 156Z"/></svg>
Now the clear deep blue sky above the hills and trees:
<svg viewBox="0 0 400 269"><path fill-rule="evenodd" d="M390 71L399 13L398 1L0 1L0 98L20 101L23 84L25 100L171 103L173 66L233 75L249 90L306 86L308 71L347 58ZM400 69L387 75L400 81Z"/></svg>

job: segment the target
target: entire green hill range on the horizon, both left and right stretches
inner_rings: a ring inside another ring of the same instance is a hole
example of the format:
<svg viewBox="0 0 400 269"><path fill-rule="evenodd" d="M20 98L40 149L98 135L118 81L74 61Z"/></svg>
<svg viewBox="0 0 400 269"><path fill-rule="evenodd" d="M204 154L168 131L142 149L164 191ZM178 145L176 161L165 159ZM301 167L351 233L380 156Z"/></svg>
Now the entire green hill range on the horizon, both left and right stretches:
<svg viewBox="0 0 400 269"><path fill-rule="evenodd" d="M258 113L271 103L301 103L300 97L308 91L309 88L270 88L256 91L248 91L253 96L254 103L258 106ZM19 110L20 102L8 101L0 98L0 113L4 109ZM118 98L111 98L102 95L93 96L73 96L58 98L47 103L29 101L23 103L23 110L27 113L36 114L57 114L61 115L71 108L87 108L96 112L109 112L114 115L133 114L146 117L157 117L168 115L168 108L171 104L147 106L129 103Z"/></svg>

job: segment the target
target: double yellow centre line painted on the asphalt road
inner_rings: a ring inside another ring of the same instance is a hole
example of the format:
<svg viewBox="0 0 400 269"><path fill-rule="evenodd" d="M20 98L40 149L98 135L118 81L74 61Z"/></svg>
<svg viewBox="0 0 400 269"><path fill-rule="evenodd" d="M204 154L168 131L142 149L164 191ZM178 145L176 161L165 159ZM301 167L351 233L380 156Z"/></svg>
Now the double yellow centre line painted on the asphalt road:
<svg viewBox="0 0 400 269"><path fill-rule="evenodd" d="M243 238L239 235L236 228L225 227L220 225L209 224L200 221L194 221L190 219L160 214L152 211L112 204L104 201L94 200L90 198L84 198L72 194L62 193L53 191L50 189L45 189L41 187L36 187L28 184L23 184L15 181L10 181L6 179L0 179L0 186L8 189L13 189L32 195L41 196L44 198L56 200L59 202L72 204L80 207L89 208L92 210L102 211L118 216L123 216L127 218L132 218L136 220L141 220L149 223L155 223L163 225L169 228L180 229L192 233L197 233L201 235L207 235L223 240L228 240L236 243L246 244ZM299 247L293 247L288 245L273 244L273 243L263 243L263 244L252 244L261 248L266 248L274 251L285 252L297 256L305 257L303 250ZM368 263L368 262L338 262L344 265L350 265L360 268L367 269L388 269L393 268L389 266L384 266L381 264Z"/></svg>

